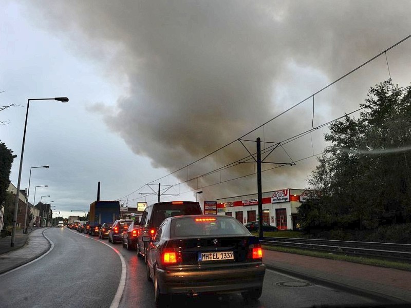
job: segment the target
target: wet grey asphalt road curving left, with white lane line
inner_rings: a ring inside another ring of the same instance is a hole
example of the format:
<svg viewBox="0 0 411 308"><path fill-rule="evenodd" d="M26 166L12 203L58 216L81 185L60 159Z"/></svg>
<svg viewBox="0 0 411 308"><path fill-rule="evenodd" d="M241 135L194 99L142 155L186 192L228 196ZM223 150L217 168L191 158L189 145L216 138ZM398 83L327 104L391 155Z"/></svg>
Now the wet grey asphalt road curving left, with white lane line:
<svg viewBox="0 0 411 308"><path fill-rule="evenodd" d="M50 228L45 235L54 243L47 256L3 276L2 307L110 307L111 303L124 308L155 307L153 284L146 280L144 262L135 251L67 228ZM125 261L123 270L116 251ZM115 297L122 273L126 274L125 286ZM170 306L287 308L377 303L268 269L263 295L255 303L246 303L234 294L177 297Z"/></svg>

